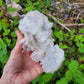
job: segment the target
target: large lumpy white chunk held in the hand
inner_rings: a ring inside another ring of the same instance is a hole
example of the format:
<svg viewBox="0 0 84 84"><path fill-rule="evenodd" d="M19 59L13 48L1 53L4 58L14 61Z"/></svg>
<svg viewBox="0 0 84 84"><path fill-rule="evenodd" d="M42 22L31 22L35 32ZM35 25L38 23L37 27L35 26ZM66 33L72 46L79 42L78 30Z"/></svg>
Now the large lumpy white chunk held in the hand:
<svg viewBox="0 0 84 84"><path fill-rule="evenodd" d="M64 51L58 45L54 45L52 39L53 23L37 10L28 12L19 21L19 29L24 34L20 41L23 49L33 51L32 60L42 65L44 72L54 72L64 60Z"/></svg>

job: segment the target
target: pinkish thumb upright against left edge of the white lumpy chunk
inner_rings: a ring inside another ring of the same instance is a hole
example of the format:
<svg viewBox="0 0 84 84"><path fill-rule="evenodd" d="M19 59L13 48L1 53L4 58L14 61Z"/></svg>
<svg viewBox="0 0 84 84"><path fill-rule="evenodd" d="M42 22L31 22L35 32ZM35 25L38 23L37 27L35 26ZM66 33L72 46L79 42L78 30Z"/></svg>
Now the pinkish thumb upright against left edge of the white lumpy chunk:
<svg viewBox="0 0 84 84"><path fill-rule="evenodd" d="M20 52L21 49L22 49L22 43L20 44L19 41L21 41L21 39L23 39L23 35L20 31L16 31L16 34L17 34L17 42L16 42L16 45L13 49L14 52Z"/></svg>

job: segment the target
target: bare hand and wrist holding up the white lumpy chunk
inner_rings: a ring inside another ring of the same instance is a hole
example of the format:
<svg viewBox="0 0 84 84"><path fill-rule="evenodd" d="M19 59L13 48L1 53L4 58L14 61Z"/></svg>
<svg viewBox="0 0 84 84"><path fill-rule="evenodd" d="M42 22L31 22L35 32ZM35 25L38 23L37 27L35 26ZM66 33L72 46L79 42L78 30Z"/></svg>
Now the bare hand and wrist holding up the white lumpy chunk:
<svg viewBox="0 0 84 84"><path fill-rule="evenodd" d="M22 44L19 44L23 38L21 32L16 31L16 34L18 39L4 67L0 84L28 84L43 73L41 65L31 59L32 52L22 50Z"/></svg>

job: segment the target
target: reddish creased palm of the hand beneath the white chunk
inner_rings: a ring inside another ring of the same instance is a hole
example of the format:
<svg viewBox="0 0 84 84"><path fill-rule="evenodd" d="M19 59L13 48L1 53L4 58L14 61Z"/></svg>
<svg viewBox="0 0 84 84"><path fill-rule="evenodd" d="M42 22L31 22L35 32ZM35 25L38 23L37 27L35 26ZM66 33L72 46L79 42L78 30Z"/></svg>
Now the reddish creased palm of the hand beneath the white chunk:
<svg viewBox="0 0 84 84"><path fill-rule="evenodd" d="M16 83L26 84L42 73L42 67L31 59L28 51L19 53L18 56L14 54L14 56L16 56L16 58L11 68L13 69L12 73L14 73L13 77L16 79Z"/></svg>

